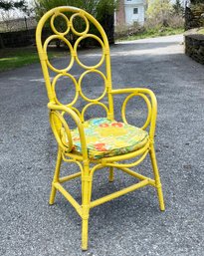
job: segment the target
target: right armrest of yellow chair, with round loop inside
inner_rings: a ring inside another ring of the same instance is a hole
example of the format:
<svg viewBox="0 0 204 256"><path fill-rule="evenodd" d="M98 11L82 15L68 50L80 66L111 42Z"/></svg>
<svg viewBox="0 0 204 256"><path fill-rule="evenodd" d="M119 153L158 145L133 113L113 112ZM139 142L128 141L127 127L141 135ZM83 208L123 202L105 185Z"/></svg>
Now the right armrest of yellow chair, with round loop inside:
<svg viewBox="0 0 204 256"><path fill-rule="evenodd" d="M126 122L125 119L125 108L128 100L130 100L134 96L140 96L146 103L148 115L146 122L142 129L145 129L149 126L149 137L153 140L154 133L155 133L155 126L156 126L156 116L157 116L157 101L154 93L145 88L126 88L126 89L118 89L118 90L111 90L111 95L120 95L120 94L128 94L125 98L122 108L121 108L121 117L124 123Z"/></svg>

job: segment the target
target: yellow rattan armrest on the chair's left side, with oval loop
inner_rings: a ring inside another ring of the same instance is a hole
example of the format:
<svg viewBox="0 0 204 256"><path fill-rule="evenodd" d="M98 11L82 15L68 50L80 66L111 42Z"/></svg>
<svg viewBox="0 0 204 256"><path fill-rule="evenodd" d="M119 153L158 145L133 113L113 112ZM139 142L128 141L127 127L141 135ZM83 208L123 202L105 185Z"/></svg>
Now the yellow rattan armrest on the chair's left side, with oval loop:
<svg viewBox="0 0 204 256"><path fill-rule="evenodd" d="M64 114L66 113L73 119L77 128L79 129L83 156L84 158L88 158L85 130L78 115L72 109L63 105L56 105L55 103L49 103L48 109L50 110L51 128L53 129L53 132L58 141L58 144L63 149L63 151L71 151L73 149L73 140L72 140L71 130L68 126L68 123L64 119ZM52 115L56 116L55 120L53 119L54 117L52 117ZM69 143L67 144L67 146L65 145L65 142L63 141L60 135L62 127L65 129L67 134L67 139L69 140Z"/></svg>

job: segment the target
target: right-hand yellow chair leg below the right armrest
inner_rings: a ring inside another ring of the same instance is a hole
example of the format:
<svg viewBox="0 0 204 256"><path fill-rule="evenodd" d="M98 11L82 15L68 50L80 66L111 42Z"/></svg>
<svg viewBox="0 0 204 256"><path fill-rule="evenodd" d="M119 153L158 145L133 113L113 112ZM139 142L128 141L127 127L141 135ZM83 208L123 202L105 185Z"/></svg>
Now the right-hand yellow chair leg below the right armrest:
<svg viewBox="0 0 204 256"><path fill-rule="evenodd" d="M155 179L155 183L156 183L159 206L160 206L160 210L163 211L163 210L165 210L164 200L163 200L163 192L162 192L159 171L158 171L157 162L156 162L156 154L155 154L153 145L150 147L149 154L150 154L151 163L152 163L152 167L153 167L153 173L154 173L154 179Z"/></svg>

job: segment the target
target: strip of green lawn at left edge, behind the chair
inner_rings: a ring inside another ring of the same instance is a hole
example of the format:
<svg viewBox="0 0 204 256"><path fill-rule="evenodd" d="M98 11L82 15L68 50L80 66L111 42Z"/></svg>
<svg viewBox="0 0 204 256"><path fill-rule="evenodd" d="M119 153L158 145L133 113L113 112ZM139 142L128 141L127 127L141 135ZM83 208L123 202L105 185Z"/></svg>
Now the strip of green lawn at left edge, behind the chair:
<svg viewBox="0 0 204 256"><path fill-rule="evenodd" d="M62 56L62 51L49 53L49 58ZM0 72L38 63L39 57L35 47L0 49Z"/></svg>

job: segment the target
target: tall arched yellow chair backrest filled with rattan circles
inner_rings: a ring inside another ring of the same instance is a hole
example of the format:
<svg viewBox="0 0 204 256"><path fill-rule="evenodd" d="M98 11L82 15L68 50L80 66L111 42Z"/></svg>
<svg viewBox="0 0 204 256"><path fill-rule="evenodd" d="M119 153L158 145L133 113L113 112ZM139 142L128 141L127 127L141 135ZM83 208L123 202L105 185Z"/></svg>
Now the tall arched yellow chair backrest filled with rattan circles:
<svg viewBox="0 0 204 256"><path fill-rule="evenodd" d="M58 30L56 28L57 19L59 18L63 19L64 23L66 24L66 28L64 28L63 32L62 30ZM77 31L75 19L82 20L85 28L84 31ZM43 40L43 29L48 25L48 22L50 23L52 35L48 36L46 40ZM97 36L96 34L90 32L91 26L94 27L95 30L98 30L100 36ZM70 42L69 35L74 35L76 37L76 41L74 44ZM87 64L84 64L83 61L80 60L78 53L79 45L81 44L82 40L89 38L97 40L99 44L102 46L102 58L100 62L95 66L89 66ZM109 45L106 35L100 23L91 14L79 8L71 6L57 7L47 12L39 21L36 30L36 40L39 57L43 69L43 74L46 82L49 101L56 105L63 105L57 97L56 84L59 79L62 79L62 77L66 77L72 81L76 91L74 99L72 99L70 103L66 104L66 106L74 110L78 114L82 122L84 122L85 113L93 105L101 106L106 112L106 117L109 119L113 119L113 103L110 95L111 72L109 59ZM67 47L70 49L70 64L67 68L58 69L54 67L49 61L47 50L52 40L63 41L64 44L66 44ZM76 79L75 76L72 75L72 68L76 62L79 66L83 68L83 72L80 75L79 79ZM105 68L103 69L102 67ZM102 70L104 70L104 72L102 72ZM52 74L54 72L54 78L53 75L51 78L51 72ZM101 76L103 80L104 89L102 95L97 99L92 99L92 95L88 97L83 93L82 90L84 78L91 73L95 73ZM107 97L107 100L102 101L102 99L105 97ZM83 98L86 102L86 105L84 106L82 111L79 111L75 108L75 105L79 98Z"/></svg>

